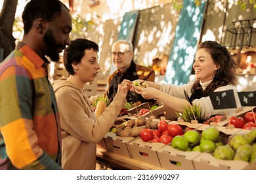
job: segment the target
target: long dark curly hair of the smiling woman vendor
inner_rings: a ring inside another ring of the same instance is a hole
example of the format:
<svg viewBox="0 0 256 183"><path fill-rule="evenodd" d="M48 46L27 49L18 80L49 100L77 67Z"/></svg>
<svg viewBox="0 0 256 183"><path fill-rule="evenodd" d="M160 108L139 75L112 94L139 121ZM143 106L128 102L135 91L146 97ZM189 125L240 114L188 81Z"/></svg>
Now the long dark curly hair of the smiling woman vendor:
<svg viewBox="0 0 256 183"><path fill-rule="evenodd" d="M199 44L198 50L202 48L205 48L205 50L209 52L213 61L219 65L219 69L216 71L211 84L205 88L201 95L206 97L208 96L208 93L213 92L221 86L226 86L228 84L236 85L237 80L235 76L235 68L237 64L226 47L216 41L205 41ZM191 92L194 93L196 90L200 90L201 88L200 80L196 80L192 86Z"/></svg>

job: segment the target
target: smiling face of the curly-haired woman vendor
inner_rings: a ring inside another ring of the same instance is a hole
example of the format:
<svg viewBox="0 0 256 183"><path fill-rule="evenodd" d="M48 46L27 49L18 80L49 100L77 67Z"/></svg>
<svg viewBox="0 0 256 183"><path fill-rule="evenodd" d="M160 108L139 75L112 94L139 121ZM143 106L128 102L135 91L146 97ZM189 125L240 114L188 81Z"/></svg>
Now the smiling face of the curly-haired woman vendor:
<svg viewBox="0 0 256 183"><path fill-rule="evenodd" d="M219 69L219 65L213 61L207 49L201 48L196 52L193 69L198 80L207 82L213 79L216 71Z"/></svg>

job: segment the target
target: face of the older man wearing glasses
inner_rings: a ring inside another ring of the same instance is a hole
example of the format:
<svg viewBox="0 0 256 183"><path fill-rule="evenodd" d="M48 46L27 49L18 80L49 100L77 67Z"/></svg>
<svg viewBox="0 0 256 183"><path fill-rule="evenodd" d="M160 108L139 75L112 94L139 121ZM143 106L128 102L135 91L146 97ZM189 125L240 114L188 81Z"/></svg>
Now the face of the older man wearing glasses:
<svg viewBox="0 0 256 183"><path fill-rule="evenodd" d="M129 44L126 42L117 42L112 46L112 53L124 53L123 56L120 58L118 55L113 56L112 60L120 71L123 73L125 72L131 65L131 60L133 59L133 50L130 50Z"/></svg>

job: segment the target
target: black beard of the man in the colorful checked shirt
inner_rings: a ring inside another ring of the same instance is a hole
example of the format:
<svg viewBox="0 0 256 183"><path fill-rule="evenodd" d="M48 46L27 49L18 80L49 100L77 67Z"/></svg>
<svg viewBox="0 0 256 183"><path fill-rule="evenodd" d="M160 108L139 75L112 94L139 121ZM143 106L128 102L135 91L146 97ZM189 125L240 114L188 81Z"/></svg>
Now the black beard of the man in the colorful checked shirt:
<svg viewBox="0 0 256 183"><path fill-rule="evenodd" d="M45 35L43 36L43 41L47 46L46 56L49 56L52 61L58 61L60 56L58 54L58 48L61 48L62 45L57 45L56 39L54 38L53 31L48 29Z"/></svg>

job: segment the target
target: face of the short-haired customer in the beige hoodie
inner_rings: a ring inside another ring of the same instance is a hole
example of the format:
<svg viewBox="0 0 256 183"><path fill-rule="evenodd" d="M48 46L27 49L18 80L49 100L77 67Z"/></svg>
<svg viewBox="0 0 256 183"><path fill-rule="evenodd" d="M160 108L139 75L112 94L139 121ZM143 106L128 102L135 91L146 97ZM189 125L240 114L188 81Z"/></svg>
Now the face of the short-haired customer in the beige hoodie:
<svg viewBox="0 0 256 183"><path fill-rule="evenodd" d="M98 63L98 53L93 49L85 50L85 56L81 59L81 63L73 65L76 71L75 77L85 84L86 82L93 82L98 74L98 69L100 69L100 64Z"/></svg>

